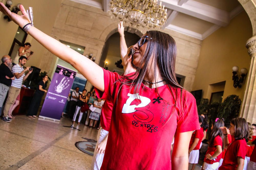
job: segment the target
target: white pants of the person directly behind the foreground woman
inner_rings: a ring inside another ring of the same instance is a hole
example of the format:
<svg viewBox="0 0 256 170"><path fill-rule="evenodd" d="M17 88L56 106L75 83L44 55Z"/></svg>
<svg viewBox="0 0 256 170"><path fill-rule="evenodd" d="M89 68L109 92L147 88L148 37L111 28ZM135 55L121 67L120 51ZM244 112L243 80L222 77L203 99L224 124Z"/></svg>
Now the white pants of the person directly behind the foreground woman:
<svg viewBox="0 0 256 170"><path fill-rule="evenodd" d="M108 134L109 134L108 131L106 131L106 130L102 129L102 127L100 127L98 135L97 135L97 143L96 143L93 158L92 158L92 166L91 166L92 170L99 170L102 165L104 153L98 153L96 150L97 150L100 142L102 142Z"/></svg>

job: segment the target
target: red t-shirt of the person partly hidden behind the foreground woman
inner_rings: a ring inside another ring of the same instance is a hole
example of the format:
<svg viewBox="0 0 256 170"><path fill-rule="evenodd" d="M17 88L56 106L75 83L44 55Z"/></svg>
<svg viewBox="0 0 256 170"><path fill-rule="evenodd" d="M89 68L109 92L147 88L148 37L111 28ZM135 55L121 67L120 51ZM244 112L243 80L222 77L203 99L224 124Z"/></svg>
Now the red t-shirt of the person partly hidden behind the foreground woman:
<svg viewBox="0 0 256 170"><path fill-rule="evenodd" d="M112 109L113 103L108 100L105 100L101 110L100 125L106 131L109 131L110 129Z"/></svg>

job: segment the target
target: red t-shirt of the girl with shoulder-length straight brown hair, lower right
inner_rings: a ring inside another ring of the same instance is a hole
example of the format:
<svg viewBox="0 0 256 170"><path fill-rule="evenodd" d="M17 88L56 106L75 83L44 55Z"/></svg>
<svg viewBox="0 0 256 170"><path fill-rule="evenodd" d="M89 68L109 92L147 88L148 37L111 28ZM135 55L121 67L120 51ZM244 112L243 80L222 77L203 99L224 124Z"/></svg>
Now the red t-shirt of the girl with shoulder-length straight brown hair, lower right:
<svg viewBox="0 0 256 170"><path fill-rule="evenodd" d="M247 143L245 139L234 140L230 143L219 170L236 169L238 166L237 157L245 158L246 146Z"/></svg>

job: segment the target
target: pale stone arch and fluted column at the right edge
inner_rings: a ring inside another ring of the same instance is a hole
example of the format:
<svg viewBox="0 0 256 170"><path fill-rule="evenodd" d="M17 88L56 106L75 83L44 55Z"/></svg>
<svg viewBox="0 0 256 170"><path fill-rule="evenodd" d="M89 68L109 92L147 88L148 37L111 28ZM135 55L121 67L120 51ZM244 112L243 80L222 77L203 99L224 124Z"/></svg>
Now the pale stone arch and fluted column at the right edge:
<svg viewBox="0 0 256 170"><path fill-rule="evenodd" d="M256 123L256 0L238 0L247 12L251 24L253 36L246 42L248 53L251 57L250 69L244 92L244 99L241 107L240 117L250 123Z"/></svg>

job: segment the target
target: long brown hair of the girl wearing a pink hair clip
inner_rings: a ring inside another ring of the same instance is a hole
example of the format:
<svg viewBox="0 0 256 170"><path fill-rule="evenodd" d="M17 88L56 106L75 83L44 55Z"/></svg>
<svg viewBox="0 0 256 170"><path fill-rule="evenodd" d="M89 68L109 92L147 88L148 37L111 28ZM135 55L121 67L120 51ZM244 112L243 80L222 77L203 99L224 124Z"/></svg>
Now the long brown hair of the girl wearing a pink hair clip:
<svg viewBox="0 0 256 170"><path fill-rule="evenodd" d="M210 139L209 139L209 146L213 145L214 139L217 136L220 136L222 139L222 150L224 149L224 145L223 145L223 133L220 129L220 127L224 126L224 122L221 119L218 119L217 122L213 121L212 123L213 128L211 130L211 135L210 135Z"/></svg>

